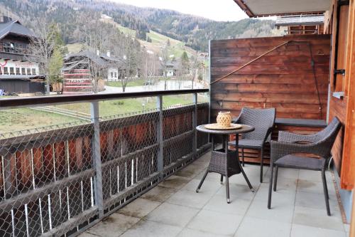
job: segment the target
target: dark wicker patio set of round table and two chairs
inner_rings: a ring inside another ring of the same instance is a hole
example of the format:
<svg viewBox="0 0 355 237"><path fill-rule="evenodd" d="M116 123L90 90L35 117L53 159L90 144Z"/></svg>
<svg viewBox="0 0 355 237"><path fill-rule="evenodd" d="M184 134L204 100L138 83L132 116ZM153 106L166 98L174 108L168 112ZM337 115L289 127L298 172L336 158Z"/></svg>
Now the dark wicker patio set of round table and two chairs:
<svg viewBox="0 0 355 237"><path fill-rule="evenodd" d="M218 120L218 119L217 119ZM260 182L263 182L263 149L268 142L271 146L271 177L268 191L268 209L271 209L272 190L276 191L278 181L278 168L308 169L321 172L324 188L324 200L327 207L327 215L330 216L329 194L325 170L329 159L332 157L331 149L337 134L342 127L337 117L334 117L324 130L314 135L300 135L291 132L280 131L278 141L271 140L271 132L275 123L275 108L251 109L244 107L241 114L228 128L211 129L210 125L197 126L200 132L209 133L212 139L212 157L209 167L202 177L196 189L198 193L209 172L221 174L226 179L226 202L229 204L229 177L234 174L242 174L251 191L253 186L244 172L244 149L258 149L261 151ZM222 148L217 147L216 136L222 136ZM235 135L236 139L229 142L229 136ZM241 138L239 138L241 135ZM234 150L229 149L234 147ZM241 162L239 159L241 149ZM315 154L317 158L307 157L306 154ZM275 179L273 172L275 168ZM274 184L273 184L274 181Z"/></svg>

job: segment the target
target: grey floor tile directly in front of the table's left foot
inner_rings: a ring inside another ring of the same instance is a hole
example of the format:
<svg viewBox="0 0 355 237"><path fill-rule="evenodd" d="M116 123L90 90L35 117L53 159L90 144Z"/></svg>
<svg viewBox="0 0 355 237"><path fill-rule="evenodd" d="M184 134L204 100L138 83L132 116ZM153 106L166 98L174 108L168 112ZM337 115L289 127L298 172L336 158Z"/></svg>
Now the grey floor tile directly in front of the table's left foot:
<svg viewBox="0 0 355 237"><path fill-rule="evenodd" d="M201 209L207 201L211 199L212 194L196 193L195 191L180 190L170 196L166 201L170 204L176 204L181 206L190 206L192 208Z"/></svg>

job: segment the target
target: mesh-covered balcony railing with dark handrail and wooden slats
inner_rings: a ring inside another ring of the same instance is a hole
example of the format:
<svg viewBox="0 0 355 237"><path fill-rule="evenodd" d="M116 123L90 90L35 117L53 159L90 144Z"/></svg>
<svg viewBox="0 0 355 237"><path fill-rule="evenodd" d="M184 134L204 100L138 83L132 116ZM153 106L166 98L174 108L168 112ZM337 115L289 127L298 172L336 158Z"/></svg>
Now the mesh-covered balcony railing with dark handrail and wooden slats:
<svg viewBox="0 0 355 237"><path fill-rule="evenodd" d="M0 236L75 236L209 149L207 89L0 100L0 110L91 103L91 122L0 135ZM163 107L163 95L193 94ZM99 101L156 97L153 110L100 117Z"/></svg>

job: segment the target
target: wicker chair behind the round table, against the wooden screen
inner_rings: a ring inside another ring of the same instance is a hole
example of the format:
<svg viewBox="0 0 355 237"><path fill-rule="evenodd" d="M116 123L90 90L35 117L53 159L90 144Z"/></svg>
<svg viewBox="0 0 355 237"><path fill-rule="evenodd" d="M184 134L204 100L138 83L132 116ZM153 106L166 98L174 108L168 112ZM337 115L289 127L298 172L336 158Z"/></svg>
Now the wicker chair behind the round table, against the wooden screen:
<svg viewBox="0 0 355 237"><path fill-rule="evenodd" d="M263 149L265 143L270 139L275 122L275 108L271 109L251 109L243 107L241 114L234 123L243 125L251 125L255 127L253 132L244 134L239 139L238 147L241 148L241 161L244 166L244 148L257 149L261 151L261 164L260 164L260 182L263 182ZM230 145L235 146L236 141L229 142Z"/></svg>

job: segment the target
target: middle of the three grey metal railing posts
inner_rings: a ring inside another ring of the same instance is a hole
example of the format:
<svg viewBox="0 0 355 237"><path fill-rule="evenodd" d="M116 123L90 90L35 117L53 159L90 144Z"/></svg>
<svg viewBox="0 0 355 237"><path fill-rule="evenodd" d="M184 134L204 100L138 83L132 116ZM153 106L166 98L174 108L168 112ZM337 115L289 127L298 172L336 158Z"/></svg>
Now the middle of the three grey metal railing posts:
<svg viewBox="0 0 355 237"><path fill-rule="evenodd" d="M159 122L157 126L157 142L159 144L158 152L158 172L160 173L160 179L163 179L163 96L158 95L156 98L156 107L159 112Z"/></svg>

